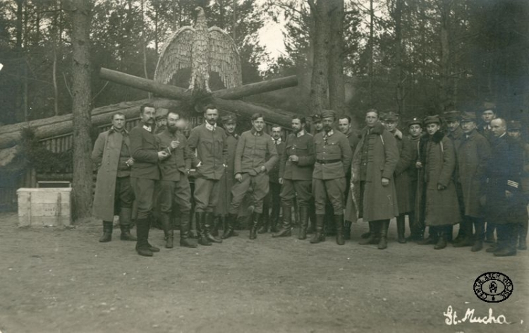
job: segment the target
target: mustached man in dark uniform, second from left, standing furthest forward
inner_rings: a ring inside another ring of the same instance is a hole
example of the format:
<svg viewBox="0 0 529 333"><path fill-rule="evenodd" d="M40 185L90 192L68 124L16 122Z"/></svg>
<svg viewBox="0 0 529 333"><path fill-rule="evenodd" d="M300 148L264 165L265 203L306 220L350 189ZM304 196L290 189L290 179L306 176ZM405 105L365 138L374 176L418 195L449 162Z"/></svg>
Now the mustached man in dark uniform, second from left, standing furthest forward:
<svg viewBox="0 0 529 333"><path fill-rule="evenodd" d="M139 255L152 257L159 248L150 245L149 227L152 219L152 199L154 197L154 183L160 178L158 162L169 157L167 152L159 150L154 134L154 114L156 109L151 105L140 107L140 123L130 130L130 151L134 159L130 173L130 185L134 190L138 205L136 219L136 251Z"/></svg>

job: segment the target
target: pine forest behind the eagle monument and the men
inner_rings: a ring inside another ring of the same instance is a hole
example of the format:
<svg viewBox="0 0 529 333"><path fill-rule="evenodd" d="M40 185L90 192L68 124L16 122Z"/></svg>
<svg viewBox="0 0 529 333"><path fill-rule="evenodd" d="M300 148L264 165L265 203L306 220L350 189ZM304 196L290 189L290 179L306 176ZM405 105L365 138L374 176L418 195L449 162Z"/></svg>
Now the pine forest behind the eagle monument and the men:
<svg viewBox="0 0 529 333"><path fill-rule="evenodd" d="M372 107L406 119L479 111L484 102L518 117L529 106L525 0L84 2L92 107L146 98L147 92L100 80L97 68L152 79L164 41L193 25L196 6L205 7L209 26L235 40L243 83L298 75L298 94L273 92L250 102L300 114L332 107L358 120ZM0 1L0 123L71 113L71 8L65 0ZM269 20L283 24L279 56L259 42Z"/></svg>

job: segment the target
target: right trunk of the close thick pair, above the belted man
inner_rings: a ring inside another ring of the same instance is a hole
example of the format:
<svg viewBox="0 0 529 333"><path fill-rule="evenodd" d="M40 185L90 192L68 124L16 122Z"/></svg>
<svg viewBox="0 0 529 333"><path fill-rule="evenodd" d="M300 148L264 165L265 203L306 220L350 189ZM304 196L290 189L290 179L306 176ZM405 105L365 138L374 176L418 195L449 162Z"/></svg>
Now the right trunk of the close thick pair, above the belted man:
<svg viewBox="0 0 529 333"><path fill-rule="evenodd" d="M338 114L346 112L346 90L343 78L343 0L329 1L329 104Z"/></svg>

